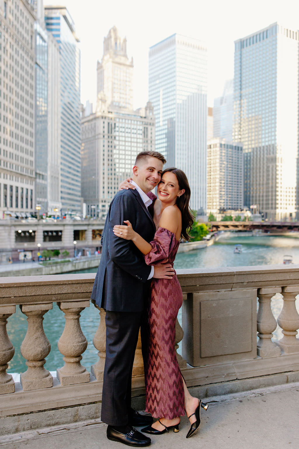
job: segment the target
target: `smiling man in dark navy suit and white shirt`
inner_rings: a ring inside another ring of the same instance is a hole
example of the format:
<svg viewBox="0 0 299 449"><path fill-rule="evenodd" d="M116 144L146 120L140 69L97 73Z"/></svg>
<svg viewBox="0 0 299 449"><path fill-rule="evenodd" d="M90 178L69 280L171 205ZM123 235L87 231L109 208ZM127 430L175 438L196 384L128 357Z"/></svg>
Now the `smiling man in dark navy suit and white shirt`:
<svg viewBox="0 0 299 449"><path fill-rule="evenodd" d="M130 446L148 446L150 438L132 425L152 423L150 416L131 409L131 381L135 349L147 281L151 277L171 279L170 264L150 267L133 242L118 238L113 226L129 220L147 242L156 225L147 207L147 197L160 182L166 160L156 151L139 153L133 167L135 189L124 189L113 198L103 231L102 256L91 298L106 310L106 360L104 368L101 419L108 424L107 437Z"/></svg>

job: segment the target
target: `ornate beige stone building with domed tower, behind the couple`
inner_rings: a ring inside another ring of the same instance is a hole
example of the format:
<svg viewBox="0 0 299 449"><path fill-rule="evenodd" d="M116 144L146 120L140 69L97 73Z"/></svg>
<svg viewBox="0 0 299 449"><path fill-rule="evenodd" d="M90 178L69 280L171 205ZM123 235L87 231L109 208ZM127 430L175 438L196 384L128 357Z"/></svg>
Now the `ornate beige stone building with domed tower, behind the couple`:
<svg viewBox="0 0 299 449"><path fill-rule="evenodd" d="M150 102L133 110L133 60L116 27L104 38L97 75L95 112L89 102L82 110L81 176L87 216L103 218L137 154L155 150L155 117Z"/></svg>

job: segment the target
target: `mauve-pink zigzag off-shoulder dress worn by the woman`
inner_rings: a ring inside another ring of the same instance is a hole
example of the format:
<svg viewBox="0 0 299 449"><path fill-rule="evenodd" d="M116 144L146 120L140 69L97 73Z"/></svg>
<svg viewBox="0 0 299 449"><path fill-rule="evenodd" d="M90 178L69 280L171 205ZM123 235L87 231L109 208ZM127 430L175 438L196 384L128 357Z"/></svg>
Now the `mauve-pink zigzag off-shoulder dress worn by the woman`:
<svg viewBox="0 0 299 449"><path fill-rule="evenodd" d="M145 255L147 265L173 261L179 242L174 233L159 228L152 250ZM182 306L182 289L175 275L152 279L147 309L147 360L145 362L146 411L154 418L183 416L184 387L174 349L175 323Z"/></svg>

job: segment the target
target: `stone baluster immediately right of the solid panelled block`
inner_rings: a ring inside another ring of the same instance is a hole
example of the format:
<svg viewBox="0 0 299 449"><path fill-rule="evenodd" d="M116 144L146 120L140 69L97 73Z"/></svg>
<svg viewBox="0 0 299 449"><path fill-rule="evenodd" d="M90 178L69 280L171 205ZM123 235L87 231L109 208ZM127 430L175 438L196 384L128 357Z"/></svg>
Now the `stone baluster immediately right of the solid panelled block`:
<svg viewBox="0 0 299 449"><path fill-rule="evenodd" d="M259 299L257 355L260 357L279 356L281 354L280 348L272 341L272 332L276 329L277 323L271 310L272 297L281 291L281 288L259 288L257 291Z"/></svg>

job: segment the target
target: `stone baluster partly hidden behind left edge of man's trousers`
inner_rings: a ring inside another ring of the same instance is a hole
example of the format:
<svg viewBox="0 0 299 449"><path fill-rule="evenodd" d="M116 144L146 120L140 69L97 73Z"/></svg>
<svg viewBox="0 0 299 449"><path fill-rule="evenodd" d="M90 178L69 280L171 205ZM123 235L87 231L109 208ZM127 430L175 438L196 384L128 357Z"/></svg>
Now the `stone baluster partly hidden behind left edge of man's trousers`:
<svg viewBox="0 0 299 449"><path fill-rule="evenodd" d="M100 310L100 325L96 330L95 336L92 340L95 349L99 351L98 356L100 357L100 360L97 361L95 365L91 365L91 373L95 376L95 379L103 380L106 359L106 312L104 311L104 309L98 307L95 304L94 299L91 299L91 302L98 310Z"/></svg>

